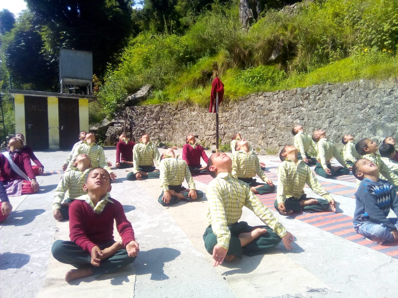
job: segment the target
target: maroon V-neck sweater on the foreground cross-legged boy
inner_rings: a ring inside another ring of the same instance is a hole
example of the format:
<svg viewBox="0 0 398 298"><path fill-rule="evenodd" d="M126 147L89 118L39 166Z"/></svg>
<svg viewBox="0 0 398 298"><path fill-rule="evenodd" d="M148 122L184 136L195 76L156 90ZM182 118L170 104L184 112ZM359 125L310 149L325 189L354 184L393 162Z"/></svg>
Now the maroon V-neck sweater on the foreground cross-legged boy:
<svg viewBox="0 0 398 298"><path fill-rule="evenodd" d="M101 214L82 200L74 200L69 206L69 238L91 253L94 246L113 240L113 220L122 238L123 245L134 240L134 230L127 220L121 203L112 199L107 202Z"/></svg>

